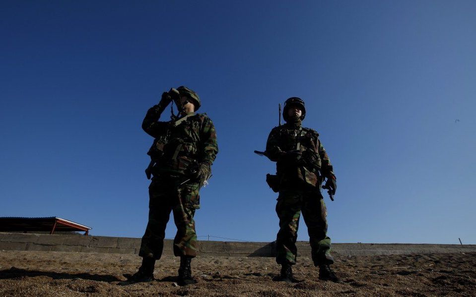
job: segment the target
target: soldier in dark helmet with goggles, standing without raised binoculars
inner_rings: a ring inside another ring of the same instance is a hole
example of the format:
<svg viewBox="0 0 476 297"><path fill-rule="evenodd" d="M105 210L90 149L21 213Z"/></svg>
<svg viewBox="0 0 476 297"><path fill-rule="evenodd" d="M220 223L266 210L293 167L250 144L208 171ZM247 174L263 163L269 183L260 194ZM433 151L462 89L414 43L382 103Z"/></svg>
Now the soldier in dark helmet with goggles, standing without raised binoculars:
<svg viewBox="0 0 476 297"><path fill-rule="evenodd" d="M320 191L321 183L327 178L326 186L334 194L336 176L319 133L301 125L305 116L302 99L287 99L283 108L286 123L272 129L266 144L266 156L276 162L277 177L272 188L279 192L276 204L279 218L276 262L281 265L279 280L293 281L291 266L296 264L295 243L302 213L308 228L312 260L315 266L319 266L319 279L340 282L329 266L334 259L331 238L327 236L326 205Z"/></svg>

